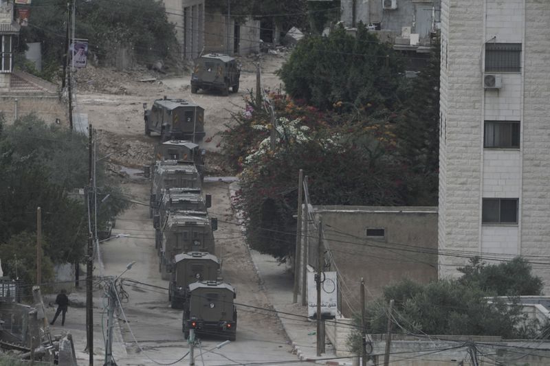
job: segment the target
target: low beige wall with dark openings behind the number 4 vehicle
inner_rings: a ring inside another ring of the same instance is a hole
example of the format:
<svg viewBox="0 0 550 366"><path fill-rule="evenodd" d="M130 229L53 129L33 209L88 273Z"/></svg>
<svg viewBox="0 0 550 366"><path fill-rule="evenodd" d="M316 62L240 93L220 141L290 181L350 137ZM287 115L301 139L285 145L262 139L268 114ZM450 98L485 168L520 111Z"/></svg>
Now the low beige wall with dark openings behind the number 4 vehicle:
<svg viewBox="0 0 550 366"><path fill-rule="evenodd" d="M235 42L237 43L236 54L246 55L260 52L260 21L248 19L245 23L239 24L239 38L235 40L235 20L230 20L229 37L227 16L217 12L206 14L204 17L206 30L204 32L204 53L216 52L221 54L235 54ZM228 41L230 46L228 47Z"/></svg>

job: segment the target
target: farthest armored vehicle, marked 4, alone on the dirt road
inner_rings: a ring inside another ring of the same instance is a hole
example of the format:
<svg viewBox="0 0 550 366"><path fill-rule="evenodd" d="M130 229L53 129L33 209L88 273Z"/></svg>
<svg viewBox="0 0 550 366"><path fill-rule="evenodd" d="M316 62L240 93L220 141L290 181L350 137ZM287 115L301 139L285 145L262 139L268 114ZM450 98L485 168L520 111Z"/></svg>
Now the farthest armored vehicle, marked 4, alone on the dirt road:
<svg viewBox="0 0 550 366"><path fill-rule="evenodd" d="M199 89L219 90L223 95L239 91L241 68L236 60L223 54L206 54L195 60L195 69L191 74L191 93Z"/></svg>

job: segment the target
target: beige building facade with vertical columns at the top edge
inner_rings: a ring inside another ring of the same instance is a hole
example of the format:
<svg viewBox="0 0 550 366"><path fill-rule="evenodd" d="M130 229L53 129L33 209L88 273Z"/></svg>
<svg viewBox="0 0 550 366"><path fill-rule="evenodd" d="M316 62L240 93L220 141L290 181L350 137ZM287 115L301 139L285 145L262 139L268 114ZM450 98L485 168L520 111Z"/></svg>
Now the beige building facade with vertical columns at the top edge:
<svg viewBox="0 0 550 366"><path fill-rule="evenodd" d="M163 0L168 21L175 25L180 57L197 58L204 46L204 0Z"/></svg>

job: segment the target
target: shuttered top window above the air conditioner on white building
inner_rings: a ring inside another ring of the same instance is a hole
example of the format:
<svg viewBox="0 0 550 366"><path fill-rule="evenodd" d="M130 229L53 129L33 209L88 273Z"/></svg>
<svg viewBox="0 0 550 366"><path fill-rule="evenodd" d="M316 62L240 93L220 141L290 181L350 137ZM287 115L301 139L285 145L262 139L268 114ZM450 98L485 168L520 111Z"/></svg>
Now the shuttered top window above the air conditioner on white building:
<svg viewBox="0 0 550 366"><path fill-rule="evenodd" d="M485 43L485 72L521 72L521 43Z"/></svg>

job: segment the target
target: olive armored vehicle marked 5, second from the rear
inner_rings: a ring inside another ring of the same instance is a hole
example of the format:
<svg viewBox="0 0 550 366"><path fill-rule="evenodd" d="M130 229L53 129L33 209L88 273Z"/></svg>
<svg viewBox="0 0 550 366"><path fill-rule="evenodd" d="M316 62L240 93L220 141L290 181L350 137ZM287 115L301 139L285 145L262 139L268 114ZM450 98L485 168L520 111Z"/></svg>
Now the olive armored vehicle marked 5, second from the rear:
<svg viewBox="0 0 550 366"><path fill-rule="evenodd" d="M168 301L173 309L183 309L187 286L197 281L215 281L219 262L215 255L206 252L189 252L175 255L172 279L168 285Z"/></svg>

